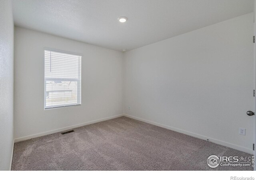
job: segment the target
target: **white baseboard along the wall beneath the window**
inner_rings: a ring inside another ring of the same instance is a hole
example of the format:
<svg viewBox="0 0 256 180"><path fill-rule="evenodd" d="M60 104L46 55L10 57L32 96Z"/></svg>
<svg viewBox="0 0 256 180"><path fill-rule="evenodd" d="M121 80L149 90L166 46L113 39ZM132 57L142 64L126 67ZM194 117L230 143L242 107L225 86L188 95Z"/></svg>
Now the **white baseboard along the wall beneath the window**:
<svg viewBox="0 0 256 180"><path fill-rule="evenodd" d="M108 117L108 118L98 119L98 120L94 120L94 121L90 121L90 122L84 122L82 124L76 124L76 125L68 126L68 127L65 127L65 128L55 129L55 130L51 130L51 131L47 131L47 132L41 132L41 133L33 134L33 135L30 135L30 136L24 136L24 137L21 137L21 138L14 139L14 142L20 142L20 141L24 141L24 140L28 140L28 139L32 139L32 138L37 138L37 137L40 137L40 136L45 136L45 135L48 135L48 134L53 134L53 133L56 133L56 132L69 130L69 129L72 129L72 128L78 128L78 127L85 126L85 125L88 125L88 124L94 124L96 122L101 122L101 121L106 121L106 120L110 120L110 119L114 119L114 118L119 118L121 116L124 116L124 115L119 114L119 115L116 115L116 116L111 116L111 117Z"/></svg>

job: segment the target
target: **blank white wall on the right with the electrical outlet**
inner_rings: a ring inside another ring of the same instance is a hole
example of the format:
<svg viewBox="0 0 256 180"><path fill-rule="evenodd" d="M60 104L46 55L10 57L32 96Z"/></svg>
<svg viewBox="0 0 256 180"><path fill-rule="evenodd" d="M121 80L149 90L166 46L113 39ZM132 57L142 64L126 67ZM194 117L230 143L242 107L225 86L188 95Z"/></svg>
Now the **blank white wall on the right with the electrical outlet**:
<svg viewBox="0 0 256 180"><path fill-rule="evenodd" d="M252 36L250 13L125 52L124 113L253 153Z"/></svg>

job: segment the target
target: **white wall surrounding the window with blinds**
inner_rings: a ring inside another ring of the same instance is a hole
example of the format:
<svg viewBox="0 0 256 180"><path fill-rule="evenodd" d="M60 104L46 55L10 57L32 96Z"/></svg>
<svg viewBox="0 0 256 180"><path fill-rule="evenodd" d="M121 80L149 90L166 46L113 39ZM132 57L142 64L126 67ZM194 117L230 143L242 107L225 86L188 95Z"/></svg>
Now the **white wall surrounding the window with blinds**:
<svg viewBox="0 0 256 180"><path fill-rule="evenodd" d="M44 47L83 54L81 106L44 110ZM122 58L122 52L15 27L14 138L123 114Z"/></svg>

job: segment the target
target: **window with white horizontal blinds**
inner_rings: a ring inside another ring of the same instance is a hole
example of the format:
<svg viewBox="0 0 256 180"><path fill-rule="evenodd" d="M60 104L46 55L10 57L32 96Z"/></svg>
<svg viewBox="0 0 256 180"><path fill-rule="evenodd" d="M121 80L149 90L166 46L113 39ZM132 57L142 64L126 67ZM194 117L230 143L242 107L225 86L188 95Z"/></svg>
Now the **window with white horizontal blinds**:
<svg viewBox="0 0 256 180"><path fill-rule="evenodd" d="M81 59L44 50L44 109L81 104Z"/></svg>

